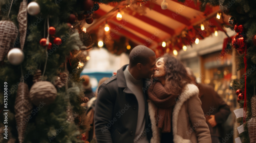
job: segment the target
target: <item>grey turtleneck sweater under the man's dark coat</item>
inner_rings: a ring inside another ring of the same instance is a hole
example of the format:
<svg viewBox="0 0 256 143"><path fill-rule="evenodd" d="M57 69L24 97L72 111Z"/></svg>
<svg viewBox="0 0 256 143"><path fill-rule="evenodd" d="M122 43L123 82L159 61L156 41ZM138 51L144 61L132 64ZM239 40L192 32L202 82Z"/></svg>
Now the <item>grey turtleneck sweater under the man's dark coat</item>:
<svg viewBox="0 0 256 143"><path fill-rule="evenodd" d="M124 76L127 87L133 92L138 101L138 120L135 132L134 143L149 143L147 135L145 135L145 99L142 91L143 81L142 79L136 80L128 70L128 66L124 70Z"/></svg>

